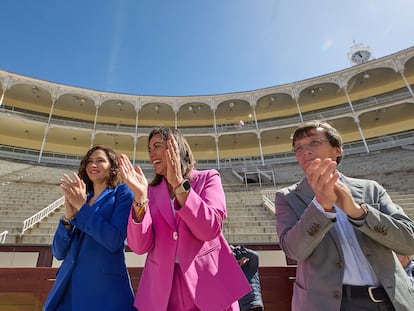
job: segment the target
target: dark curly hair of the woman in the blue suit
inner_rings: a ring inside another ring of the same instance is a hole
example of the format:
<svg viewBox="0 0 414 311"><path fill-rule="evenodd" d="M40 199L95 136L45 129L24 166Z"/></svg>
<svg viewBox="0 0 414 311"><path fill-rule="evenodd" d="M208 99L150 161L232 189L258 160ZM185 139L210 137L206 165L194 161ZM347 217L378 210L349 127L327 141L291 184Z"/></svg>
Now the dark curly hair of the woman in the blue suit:
<svg viewBox="0 0 414 311"><path fill-rule="evenodd" d="M116 185L120 184L122 179L121 175L119 174L119 168L118 168L118 155L114 150L112 150L109 147L102 146L102 145L95 145L91 149L88 150L88 152L85 154L83 159L81 160L78 175L79 178L84 181L86 184L86 193L89 193L93 190L93 182L89 179L88 174L86 173L86 165L88 164L88 160L92 153L94 153L96 150L102 150L105 152L108 161L111 165L111 169L109 171L109 176L107 180L108 187L114 188Z"/></svg>

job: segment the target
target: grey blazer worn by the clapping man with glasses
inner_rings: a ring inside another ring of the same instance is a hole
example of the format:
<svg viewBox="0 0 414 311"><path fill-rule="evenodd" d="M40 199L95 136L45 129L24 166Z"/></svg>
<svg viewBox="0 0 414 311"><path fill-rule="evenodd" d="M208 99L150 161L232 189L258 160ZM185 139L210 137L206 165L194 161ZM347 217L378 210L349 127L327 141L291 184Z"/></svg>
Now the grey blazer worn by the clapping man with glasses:
<svg viewBox="0 0 414 311"><path fill-rule="evenodd" d="M354 225L362 251L397 311L414 310L414 286L393 251L414 254L414 223L376 181L343 176L357 203L368 205ZM297 261L292 311L340 310L344 256L331 221L312 203L304 178L276 193L276 227L286 255Z"/></svg>

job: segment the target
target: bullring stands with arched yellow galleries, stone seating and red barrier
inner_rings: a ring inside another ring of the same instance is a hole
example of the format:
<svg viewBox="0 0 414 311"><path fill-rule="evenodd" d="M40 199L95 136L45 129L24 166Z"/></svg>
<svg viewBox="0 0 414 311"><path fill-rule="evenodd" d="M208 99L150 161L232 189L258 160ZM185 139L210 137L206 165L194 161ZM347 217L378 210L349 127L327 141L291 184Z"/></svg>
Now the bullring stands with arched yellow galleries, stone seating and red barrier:
<svg viewBox="0 0 414 311"><path fill-rule="evenodd" d="M231 244L259 253L266 310L289 310L295 263L278 246L276 189L302 172L291 134L321 119L340 130L346 175L378 180L414 217L414 48L290 84L205 96L108 93L0 70L0 310L40 310L59 262L59 180L91 145L126 153L151 178L147 137L179 128L197 168L222 176ZM144 263L127 249L134 289Z"/></svg>

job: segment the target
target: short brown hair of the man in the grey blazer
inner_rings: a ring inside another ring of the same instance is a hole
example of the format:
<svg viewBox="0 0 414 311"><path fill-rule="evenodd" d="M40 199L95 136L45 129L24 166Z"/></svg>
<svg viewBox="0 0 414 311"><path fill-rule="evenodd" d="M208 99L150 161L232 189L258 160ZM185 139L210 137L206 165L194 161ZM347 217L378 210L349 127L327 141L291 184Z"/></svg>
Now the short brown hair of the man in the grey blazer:
<svg viewBox="0 0 414 311"><path fill-rule="evenodd" d="M328 138L329 143L333 147L341 147L342 148L342 137L339 134L338 130L335 129L332 125L325 121L309 121L302 123L293 133L292 136L292 147L295 147L295 142L297 139L303 137L312 136L313 130L323 129L326 138ZM335 160L338 165L341 163L343 156L338 156Z"/></svg>

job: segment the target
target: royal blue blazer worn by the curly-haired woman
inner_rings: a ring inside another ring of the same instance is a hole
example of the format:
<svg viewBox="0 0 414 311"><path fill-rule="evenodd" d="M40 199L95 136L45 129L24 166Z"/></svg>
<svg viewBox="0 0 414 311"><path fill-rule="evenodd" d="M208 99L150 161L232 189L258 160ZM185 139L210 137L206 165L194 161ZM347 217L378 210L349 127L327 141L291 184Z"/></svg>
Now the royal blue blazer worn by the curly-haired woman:
<svg viewBox="0 0 414 311"><path fill-rule="evenodd" d="M63 262L43 311L60 304L77 311L135 310L124 253L132 200L125 184L107 188L92 205L82 206L71 231L59 223L52 251Z"/></svg>

